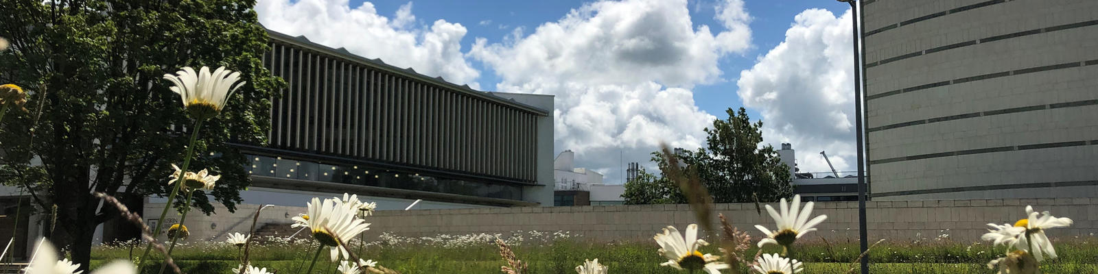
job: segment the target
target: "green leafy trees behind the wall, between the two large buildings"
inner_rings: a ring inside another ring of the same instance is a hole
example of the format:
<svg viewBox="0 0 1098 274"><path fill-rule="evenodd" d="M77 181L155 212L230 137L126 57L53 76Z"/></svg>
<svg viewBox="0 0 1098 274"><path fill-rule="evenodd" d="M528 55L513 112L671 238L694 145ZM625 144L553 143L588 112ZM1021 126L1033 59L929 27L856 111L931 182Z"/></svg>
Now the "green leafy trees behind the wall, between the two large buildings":
<svg viewBox="0 0 1098 274"><path fill-rule="evenodd" d="M715 119L708 134L706 148L682 151L674 156L687 168L684 172L697 175L706 186L714 203L775 202L793 195L793 178L782 163L774 147L762 142L762 122L751 123L747 111L728 109L727 119ZM662 173L670 171L669 156L652 152ZM626 182L621 197L626 204L682 204L682 191L672 180L645 171ZM758 201L755 199L758 197Z"/></svg>

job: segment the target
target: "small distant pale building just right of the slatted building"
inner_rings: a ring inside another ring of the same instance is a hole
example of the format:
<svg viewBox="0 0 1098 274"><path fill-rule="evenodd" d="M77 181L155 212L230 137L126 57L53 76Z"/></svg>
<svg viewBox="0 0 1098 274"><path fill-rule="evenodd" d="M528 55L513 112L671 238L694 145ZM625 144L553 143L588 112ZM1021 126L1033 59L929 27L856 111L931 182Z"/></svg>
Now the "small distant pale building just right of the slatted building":
<svg viewBox="0 0 1098 274"><path fill-rule="evenodd" d="M575 152L564 150L553 160L553 205L591 205L591 185L602 184L603 174L575 168Z"/></svg>

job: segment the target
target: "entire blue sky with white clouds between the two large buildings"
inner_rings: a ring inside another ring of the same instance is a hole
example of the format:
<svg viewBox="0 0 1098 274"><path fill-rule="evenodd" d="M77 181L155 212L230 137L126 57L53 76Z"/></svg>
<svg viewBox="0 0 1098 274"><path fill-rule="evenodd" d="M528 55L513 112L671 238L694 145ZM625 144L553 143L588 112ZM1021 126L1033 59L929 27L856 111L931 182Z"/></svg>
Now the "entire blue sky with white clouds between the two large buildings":
<svg viewBox="0 0 1098 274"><path fill-rule="evenodd" d="M848 5L833 0L259 0L260 22L500 92L554 96L553 146L621 182L744 106L802 171L853 162ZM613 157L607 157L613 156Z"/></svg>

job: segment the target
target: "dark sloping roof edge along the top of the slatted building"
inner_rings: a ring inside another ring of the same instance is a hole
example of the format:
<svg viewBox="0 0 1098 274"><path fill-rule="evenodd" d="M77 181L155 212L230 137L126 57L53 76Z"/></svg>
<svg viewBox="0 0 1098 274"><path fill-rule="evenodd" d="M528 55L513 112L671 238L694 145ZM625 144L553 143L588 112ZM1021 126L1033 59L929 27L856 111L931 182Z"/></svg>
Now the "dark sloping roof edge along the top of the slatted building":
<svg viewBox="0 0 1098 274"><path fill-rule="evenodd" d="M549 113L551 111L551 110L541 110L539 107L536 107L536 106L533 106L533 105L528 105L528 104L524 104L524 103L519 103L519 102L503 100L502 98L498 98L498 96L492 96L492 95L489 95L488 92L485 92L485 91L473 90L473 89L469 88L468 84L458 85L456 83L451 83L451 82L446 81L441 77L429 77L429 76L421 75L421 73L416 72L415 70L413 70L412 68L399 68L396 66L385 64L384 61L382 61L381 59L378 59L378 58L370 59L370 58L366 58L366 57L362 57L362 56L358 56L358 55L351 54L350 52L347 52L346 48L341 48L341 47L340 48L333 48L333 47L329 47L329 46L321 45L321 44L317 44L315 42L309 41L309 38L305 37L305 36L299 35L299 36L295 37L295 36L287 35L284 33L276 32L276 31L270 30L270 28L266 28L265 27L265 30L267 30L268 36L270 38L272 38L272 39L278 39L278 41L282 41L282 42L287 42L287 43L296 44L296 45L300 45L300 46L303 46L303 47L307 47L307 48L313 49L313 50L317 50L317 52L322 52L322 53L325 53L325 54L338 56L338 57L341 57L341 58L346 58L348 60L358 61L358 62L361 62L361 64L370 66L370 67L374 67L374 68L378 68L378 69L383 69L383 70L386 70L386 71L392 72L392 73L396 73L396 75L401 75L401 76L404 76L404 77L414 78L416 80L429 82L429 83L433 83L433 84L437 84L439 87L446 87L446 88L449 88L449 89L453 89L456 91L464 92L464 93L467 93L469 95L472 95L472 96L475 96L475 98L489 100L489 101L501 103L501 104L504 104L504 105L509 105L509 106L513 106L513 107L516 107L516 109L519 109L519 110L531 112L531 113L537 114L537 115L549 116Z"/></svg>

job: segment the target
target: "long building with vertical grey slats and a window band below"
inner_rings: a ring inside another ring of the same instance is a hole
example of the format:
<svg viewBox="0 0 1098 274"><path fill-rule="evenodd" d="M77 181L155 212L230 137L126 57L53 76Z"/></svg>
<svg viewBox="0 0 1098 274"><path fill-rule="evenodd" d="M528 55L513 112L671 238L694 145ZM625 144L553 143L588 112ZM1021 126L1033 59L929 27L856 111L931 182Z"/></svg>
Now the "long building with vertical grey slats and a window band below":
<svg viewBox="0 0 1098 274"><path fill-rule="evenodd" d="M251 186L236 213L215 204L213 216L189 215L186 225L203 228L191 229L191 240L247 231L251 213L240 208L276 205L259 226L284 225L312 197L343 193L379 210L553 205L553 96L478 91L303 36L268 34L264 64L288 83L271 99L269 142L233 144L248 156ZM19 195L0 186L0 209L13 214ZM178 216L156 219L165 202L145 197L131 208L167 227ZM15 253L23 258L43 231L37 220L48 216L19 216L25 227L16 230L26 232ZM126 227L108 222L97 241L136 236Z"/></svg>

